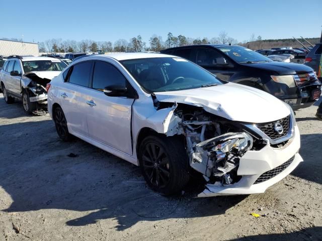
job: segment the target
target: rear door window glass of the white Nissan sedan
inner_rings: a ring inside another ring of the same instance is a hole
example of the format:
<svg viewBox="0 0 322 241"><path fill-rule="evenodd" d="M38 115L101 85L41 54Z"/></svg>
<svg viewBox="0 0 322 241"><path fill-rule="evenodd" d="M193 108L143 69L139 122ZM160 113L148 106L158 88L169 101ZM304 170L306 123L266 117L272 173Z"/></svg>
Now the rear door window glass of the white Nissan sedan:
<svg viewBox="0 0 322 241"><path fill-rule="evenodd" d="M90 86L90 78L92 73L92 61L86 61L75 64L69 75L68 82L81 85L84 87Z"/></svg>

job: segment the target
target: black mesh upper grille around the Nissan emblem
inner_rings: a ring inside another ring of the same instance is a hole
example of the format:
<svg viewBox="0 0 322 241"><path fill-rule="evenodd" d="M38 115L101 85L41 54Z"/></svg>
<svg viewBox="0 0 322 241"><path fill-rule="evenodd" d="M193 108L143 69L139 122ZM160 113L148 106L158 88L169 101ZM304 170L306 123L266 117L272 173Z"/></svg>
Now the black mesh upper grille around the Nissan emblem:
<svg viewBox="0 0 322 241"><path fill-rule="evenodd" d="M281 124L283 127L283 132L281 134L275 131L276 123ZM264 132L269 138L273 140L277 138L285 137L290 128L290 116L286 116L285 118L279 119L278 121L275 121L275 122L260 123L260 124L257 124L257 127L262 132Z"/></svg>

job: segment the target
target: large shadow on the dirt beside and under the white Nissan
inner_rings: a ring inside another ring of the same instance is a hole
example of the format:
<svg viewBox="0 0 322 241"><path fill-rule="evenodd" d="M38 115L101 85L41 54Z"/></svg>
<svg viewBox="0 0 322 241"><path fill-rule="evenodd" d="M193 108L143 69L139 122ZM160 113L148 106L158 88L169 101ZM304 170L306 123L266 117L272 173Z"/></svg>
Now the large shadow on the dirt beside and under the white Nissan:
<svg viewBox="0 0 322 241"><path fill-rule="evenodd" d="M0 185L11 198L6 212L81 211L66 224L112 218L124 230L142 220L223 214L246 198L195 198L203 190L195 179L183 195L160 196L146 186L137 166L79 139L60 141L50 120L0 126L0 141Z"/></svg>

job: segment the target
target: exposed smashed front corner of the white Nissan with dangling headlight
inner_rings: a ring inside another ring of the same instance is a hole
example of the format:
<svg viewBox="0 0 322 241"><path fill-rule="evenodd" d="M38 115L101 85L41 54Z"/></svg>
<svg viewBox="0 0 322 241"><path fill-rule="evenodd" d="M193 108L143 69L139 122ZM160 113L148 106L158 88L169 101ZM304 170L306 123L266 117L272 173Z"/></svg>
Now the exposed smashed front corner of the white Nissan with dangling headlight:
<svg viewBox="0 0 322 241"><path fill-rule="evenodd" d="M184 135L190 166L208 183L222 185L238 182L239 159L253 148L253 137L236 123L206 112L203 108L179 104L168 136Z"/></svg>

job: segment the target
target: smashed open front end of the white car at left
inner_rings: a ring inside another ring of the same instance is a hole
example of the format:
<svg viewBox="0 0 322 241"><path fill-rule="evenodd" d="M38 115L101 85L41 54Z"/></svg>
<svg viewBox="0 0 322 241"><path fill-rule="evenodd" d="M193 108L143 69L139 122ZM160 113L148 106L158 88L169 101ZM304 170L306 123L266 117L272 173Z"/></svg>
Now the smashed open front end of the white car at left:
<svg viewBox="0 0 322 241"><path fill-rule="evenodd" d="M21 78L22 87L29 92L30 102L37 103L37 109L33 111L35 114L44 115L47 113L46 85L50 81L50 79L41 78L33 72L25 73Z"/></svg>

